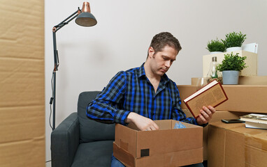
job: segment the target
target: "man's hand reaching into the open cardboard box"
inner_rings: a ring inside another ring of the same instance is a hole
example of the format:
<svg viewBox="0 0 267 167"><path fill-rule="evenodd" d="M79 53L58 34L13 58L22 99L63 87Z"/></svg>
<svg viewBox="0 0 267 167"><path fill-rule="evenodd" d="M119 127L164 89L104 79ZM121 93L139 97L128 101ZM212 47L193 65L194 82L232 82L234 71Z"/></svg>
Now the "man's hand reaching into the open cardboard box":
<svg viewBox="0 0 267 167"><path fill-rule="evenodd" d="M159 129L158 125L153 120L150 120L150 118L146 118L144 116L140 116L139 114L134 112L129 113L125 122L133 122L134 125L136 125L136 127L138 127L138 129L140 129L141 131Z"/></svg>

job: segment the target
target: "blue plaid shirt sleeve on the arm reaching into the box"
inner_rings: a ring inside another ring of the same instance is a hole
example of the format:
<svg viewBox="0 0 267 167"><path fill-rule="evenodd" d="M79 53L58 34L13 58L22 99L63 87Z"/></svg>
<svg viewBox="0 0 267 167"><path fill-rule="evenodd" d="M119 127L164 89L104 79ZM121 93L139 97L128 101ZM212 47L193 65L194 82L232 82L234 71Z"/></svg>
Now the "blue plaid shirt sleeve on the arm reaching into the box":
<svg viewBox="0 0 267 167"><path fill-rule="evenodd" d="M122 125L130 111L124 111L120 105L124 101L126 86L125 72L118 72L110 80L108 86L104 88L96 99L87 105L87 117L99 121L117 122Z"/></svg>

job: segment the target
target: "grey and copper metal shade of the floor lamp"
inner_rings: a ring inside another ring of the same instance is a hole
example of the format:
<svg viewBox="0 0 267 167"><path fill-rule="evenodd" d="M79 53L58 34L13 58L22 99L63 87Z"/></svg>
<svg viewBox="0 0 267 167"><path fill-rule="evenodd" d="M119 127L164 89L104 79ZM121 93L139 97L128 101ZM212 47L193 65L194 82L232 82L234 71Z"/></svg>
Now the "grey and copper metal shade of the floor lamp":
<svg viewBox="0 0 267 167"><path fill-rule="evenodd" d="M94 15L90 13L90 5L89 2L84 2L82 5L82 13L78 15L75 19L75 23L80 26L94 26L96 25L97 21Z"/></svg>

